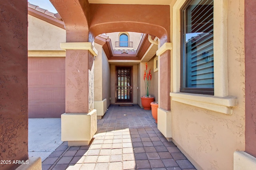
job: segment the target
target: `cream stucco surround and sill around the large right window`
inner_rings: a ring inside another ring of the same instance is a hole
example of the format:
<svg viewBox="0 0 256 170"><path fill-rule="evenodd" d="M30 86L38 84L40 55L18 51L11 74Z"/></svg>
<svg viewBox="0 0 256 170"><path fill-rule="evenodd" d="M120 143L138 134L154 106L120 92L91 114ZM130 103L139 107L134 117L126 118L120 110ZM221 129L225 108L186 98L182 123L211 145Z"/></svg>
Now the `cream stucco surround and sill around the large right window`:
<svg viewBox="0 0 256 170"><path fill-rule="evenodd" d="M171 102L176 101L226 115L232 115L237 98L228 96L228 1L214 1L214 95L180 92L180 9L187 0L176 1L172 16L172 89ZM222 38L219 38L222 37ZM163 45L164 46L164 45ZM162 48L162 47L161 47Z"/></svg>

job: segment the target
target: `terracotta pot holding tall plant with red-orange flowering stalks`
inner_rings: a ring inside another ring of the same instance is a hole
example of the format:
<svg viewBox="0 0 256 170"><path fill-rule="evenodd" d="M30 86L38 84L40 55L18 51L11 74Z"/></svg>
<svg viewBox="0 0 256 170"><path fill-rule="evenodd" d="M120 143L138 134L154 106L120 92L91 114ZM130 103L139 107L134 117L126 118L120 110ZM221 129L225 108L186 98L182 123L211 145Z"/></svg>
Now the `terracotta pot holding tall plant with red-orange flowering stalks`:
<svg viewBox="0 0 256 170"><path fill-rule="evenodd" d="M151 109L151 102L154 102L154 97L149 95L149 88L150 88L150 80L152 78L152 74L150 73L151 70L148 72L148 64L146 63L146 70L144 70L144 82L145 82L145 90L146 95L141 97L141 104L145 110Z"/></svg>

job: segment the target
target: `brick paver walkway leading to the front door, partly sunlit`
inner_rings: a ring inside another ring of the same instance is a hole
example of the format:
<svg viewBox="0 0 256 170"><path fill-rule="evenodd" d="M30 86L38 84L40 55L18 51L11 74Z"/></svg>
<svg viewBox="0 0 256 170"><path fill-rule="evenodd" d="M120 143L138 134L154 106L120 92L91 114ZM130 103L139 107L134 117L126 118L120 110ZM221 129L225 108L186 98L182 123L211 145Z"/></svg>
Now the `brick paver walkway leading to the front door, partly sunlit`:
<svg viewBox="0 0 256 170"><path fill-rule="evenodd" d="M111 105L98 120L90 146L62 143L43 170L195 170L180 150L157 129L151 110Z"/></svg>

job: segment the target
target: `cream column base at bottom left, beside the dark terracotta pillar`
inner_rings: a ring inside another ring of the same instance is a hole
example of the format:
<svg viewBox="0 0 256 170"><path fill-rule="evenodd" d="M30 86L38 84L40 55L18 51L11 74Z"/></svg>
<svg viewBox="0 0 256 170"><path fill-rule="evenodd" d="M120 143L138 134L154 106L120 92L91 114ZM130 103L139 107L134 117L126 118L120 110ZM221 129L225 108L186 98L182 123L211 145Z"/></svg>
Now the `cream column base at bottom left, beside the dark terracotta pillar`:
<svg viewBox="0 0 256 170"><path fill-rule="evenodd" d="M16 170L42 170L42 160L40 157L29 157Z"/></svg>

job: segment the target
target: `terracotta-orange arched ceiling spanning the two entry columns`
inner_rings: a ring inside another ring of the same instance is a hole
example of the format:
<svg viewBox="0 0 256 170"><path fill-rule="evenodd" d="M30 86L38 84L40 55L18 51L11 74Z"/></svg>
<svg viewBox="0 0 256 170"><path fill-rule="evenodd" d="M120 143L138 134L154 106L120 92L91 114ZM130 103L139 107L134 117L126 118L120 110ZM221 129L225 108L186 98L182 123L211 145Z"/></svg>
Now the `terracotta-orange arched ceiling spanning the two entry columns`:
<svg viewBox="0 0 256 170"><path fill-rule="evenodd" d="M161 44L170 41L170 1L50 0L66 25L67 42L92 42L102 33L131 31L157 36Z"/></svg>

